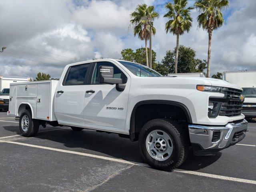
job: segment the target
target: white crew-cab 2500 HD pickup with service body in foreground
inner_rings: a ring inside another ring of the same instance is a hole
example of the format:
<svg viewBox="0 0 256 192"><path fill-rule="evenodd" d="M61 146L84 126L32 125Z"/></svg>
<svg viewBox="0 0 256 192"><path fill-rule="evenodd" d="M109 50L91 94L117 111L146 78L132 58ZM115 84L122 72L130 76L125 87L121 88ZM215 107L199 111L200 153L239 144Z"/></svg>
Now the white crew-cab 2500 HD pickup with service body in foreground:
<svg viewBox="0 0 256 192"><path fill-rule="evenodd" d="M114 59L67 65L59 81L12 83L8 114L23 136L66 125L138 140L146 162L180 166L192 146L213 154L245 137L242 88L224 80L163 77L146 66Z"/></svg>

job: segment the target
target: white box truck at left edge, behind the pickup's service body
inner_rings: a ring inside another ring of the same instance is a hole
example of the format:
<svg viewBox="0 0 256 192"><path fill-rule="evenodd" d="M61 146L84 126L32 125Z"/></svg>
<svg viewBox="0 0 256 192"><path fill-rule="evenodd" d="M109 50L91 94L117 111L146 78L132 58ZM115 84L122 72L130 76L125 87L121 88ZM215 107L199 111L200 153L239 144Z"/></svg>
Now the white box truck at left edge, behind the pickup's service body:
<svg viewBox="0 0 256 192"><path fill-rule="evenodd" d="M10 83L28 81L27 77L0 76L0 111L8 110Z"/></svg>

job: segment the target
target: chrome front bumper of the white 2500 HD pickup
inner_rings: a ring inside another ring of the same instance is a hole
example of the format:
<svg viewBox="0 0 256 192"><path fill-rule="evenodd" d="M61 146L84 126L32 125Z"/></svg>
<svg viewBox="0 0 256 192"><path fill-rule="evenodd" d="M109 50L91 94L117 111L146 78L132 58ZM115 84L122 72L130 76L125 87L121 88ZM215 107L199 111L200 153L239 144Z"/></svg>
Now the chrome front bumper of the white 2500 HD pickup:
<svg viewBox="0 0 256 192"><path fill-rule="evenodd" d="M195 155L210 155L240 142L247 132L248 122L226 126L188 125L190 142Z"/></svg>

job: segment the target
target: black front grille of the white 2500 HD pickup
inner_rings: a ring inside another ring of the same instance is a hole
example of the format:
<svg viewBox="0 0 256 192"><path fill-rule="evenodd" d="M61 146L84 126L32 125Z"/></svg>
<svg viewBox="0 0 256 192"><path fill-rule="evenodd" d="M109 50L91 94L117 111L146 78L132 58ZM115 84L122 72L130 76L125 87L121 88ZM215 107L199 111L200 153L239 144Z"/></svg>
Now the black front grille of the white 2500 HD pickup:
<svg viewBox="0 0 256 192"><path fill-rule="evenodd" d="M220 116L238 116L242 111L243 102L240 101L242 90L233 88L222 88L222 93L226 95L225 101L220 108Z"/></svg>

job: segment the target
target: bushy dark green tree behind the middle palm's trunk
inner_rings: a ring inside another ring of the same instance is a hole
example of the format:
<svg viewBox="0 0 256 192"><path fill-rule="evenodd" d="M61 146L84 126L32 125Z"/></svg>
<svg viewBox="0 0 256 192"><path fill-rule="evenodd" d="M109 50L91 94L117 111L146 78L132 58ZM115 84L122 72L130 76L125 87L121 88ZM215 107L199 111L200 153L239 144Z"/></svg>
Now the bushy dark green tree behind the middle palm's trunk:
<svg viewBox="0 0 256 192"><path fill-rule="evenodd" d="M162 75L175 73L175 57L176 48L167 50L162 62L158 63L154 69ZM204 72L206 65L206 60L196 58L195 50L190 47L179 46L178 73Z"/></svg>

